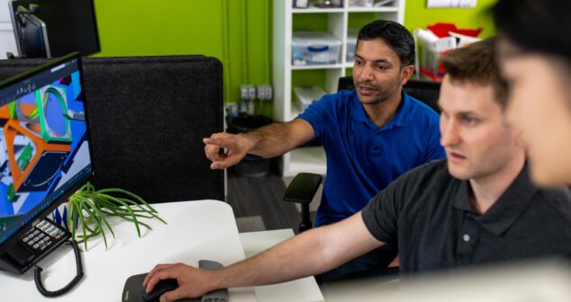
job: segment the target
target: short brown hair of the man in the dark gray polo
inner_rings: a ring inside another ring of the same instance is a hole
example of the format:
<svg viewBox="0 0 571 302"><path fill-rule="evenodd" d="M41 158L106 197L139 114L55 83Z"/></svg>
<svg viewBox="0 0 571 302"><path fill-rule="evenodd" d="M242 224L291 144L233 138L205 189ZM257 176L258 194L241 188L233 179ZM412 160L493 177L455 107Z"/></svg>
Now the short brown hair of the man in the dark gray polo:
<svg viewBox="0 0 571 302"><path fill-rule="evenodd" d="M440 62L451 81L471 82L494 87L495 102L502 109L507 104L508 85L500 74L495 58L496 38L472 43L467 47L454 49L440 57Z"/></svg>

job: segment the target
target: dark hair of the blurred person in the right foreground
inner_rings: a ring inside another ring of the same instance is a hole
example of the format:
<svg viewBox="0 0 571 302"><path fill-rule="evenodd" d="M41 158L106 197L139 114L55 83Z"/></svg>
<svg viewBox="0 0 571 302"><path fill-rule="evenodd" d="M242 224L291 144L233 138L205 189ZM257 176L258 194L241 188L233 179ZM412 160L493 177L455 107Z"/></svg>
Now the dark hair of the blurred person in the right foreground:
<svg viewBox="0 0 571 302"><path fill-rule="evenodd" d="M569 13L569 0L499 0L492 7L497 31L521 50L555 55L571 66Z"/></svg>

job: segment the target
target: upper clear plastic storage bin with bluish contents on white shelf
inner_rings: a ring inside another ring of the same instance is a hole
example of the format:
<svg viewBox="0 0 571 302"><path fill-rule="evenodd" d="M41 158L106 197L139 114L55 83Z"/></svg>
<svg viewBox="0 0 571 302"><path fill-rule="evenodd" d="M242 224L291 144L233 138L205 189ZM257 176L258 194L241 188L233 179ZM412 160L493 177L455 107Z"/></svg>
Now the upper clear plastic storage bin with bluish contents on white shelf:
<svg viewBox="0 0 571 302"><path fill-rule="evenodd" d="M295 31L292 39L292 64L336 64L341 41L325 31Z"/></svg>

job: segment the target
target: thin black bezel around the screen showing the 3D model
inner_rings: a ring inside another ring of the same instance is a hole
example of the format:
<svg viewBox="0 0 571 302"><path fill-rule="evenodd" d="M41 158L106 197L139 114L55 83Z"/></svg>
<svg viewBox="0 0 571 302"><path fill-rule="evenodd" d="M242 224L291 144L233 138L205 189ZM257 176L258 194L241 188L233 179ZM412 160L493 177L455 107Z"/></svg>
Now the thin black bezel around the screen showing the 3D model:
<svg viewBox="0 0 571 302"><path fill-rule="evenodd" d="M57 209L60 204L62 204L66 200L68 200L69 196L71 196L73 193L75 193L81 186L86 184L86 182L88 182L89 179L95 173L95 167L94 167L94 162L93 162L93 147L91 144L91 137L90 137L90 131L89 131L89 120L88 120L89 118L88 118L87 106L86 106L86 91L85 91L86 86L85 86L85 79L84 79L84 74L83 74L83 67L82 67L82 63L81 63L81 57L79 56L79 53L74 52L72 54L69 54L68 56L54 59L54 60L50 61L49 63L43 64L39 67L34 67L34 68L30 69L29 71L26 71L20 75L10 77L10 78L6 79L5 81L0 81L0 89L2 89L2 88L5 88L6 86L16 84L16 83L22 81L23 79L39 75L42 72L44 72L46 70L50 70L53 67L58 67L59 65L65 63L65 62L68 62L69 60L73 60L74 58L77 59L77 69L79 71L79 83L82 87L80 94L81 94L81 99L84 102L84 116L86 119L85 120L86 121L86 140L87 140L87 147L89 149L89 161L91 164L91 173L86 174L82 179L80 179L68 191L66 191L64 194L59 196L59 198L57 200L53 201L48 207L46 207L46 209L43 209L41 212L39 212L34 218L30 219L30 221L28 223L26 223L23 227L20 227L19 230L16 230L13 235L11 235L9 238L7 238L5 240L4 243L0 244L0 255L4 254L12 246L14 246L14 244L19 242L22 239L23 235L25 235L30 229L32 229L32 227L34 227L36 224L38 224L43 218L48 217L48 215L54 209Z"/></svg>

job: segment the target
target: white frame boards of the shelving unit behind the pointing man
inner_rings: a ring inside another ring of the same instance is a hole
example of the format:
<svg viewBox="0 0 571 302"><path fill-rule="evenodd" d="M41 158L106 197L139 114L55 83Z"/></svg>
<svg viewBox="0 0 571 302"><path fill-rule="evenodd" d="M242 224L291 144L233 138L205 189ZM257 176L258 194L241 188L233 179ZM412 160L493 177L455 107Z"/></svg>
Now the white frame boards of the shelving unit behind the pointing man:
<svg viewBox="0 0 571 302"><path fill-rule="evenodd" d="M340 0L340 8L293 8L293 0L274 0L274 119L278 121L293 120L299 111L292 106L292 82L294 72L304 70L322 70L325 74L324 89L327 93L337 91L337 82L346 75L346 69L353 67L347 61L347 32L349 20L359 13L374 13L376 19L391 20L403 23L404 0L394 0L380 7L349 7L349 0ZM340 59L338 64L294 66L292 64L292 34L295 28L295 15L325 14L327 31L341 40ZM308 83L311 84L311 83ZM316 84L322 85L322 84ZM326 173L325 153L322 147L299 147L281 158L284 176L293 176L300 172Z"/></svg>

